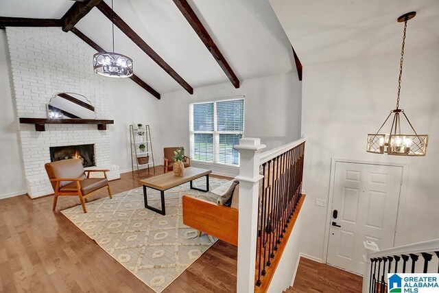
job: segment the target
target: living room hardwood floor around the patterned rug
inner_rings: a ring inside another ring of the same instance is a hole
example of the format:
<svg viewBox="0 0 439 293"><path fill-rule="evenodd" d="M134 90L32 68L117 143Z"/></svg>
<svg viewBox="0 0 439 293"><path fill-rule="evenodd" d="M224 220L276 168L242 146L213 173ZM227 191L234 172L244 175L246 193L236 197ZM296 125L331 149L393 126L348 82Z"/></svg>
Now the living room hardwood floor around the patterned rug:
<svg viewBox="0 0 439 293"><path fill-rule="evenodd" d="M156 167L156 174L163 166ZM151 175L153 172L151 172ZM146 171L121 174L112 194L139 187ZM107 196L106 190L88 201ZM77 197L0 200L0 292L154 292L60 213ZM163 292L235 292L237 248L218 241Z"/></svg>

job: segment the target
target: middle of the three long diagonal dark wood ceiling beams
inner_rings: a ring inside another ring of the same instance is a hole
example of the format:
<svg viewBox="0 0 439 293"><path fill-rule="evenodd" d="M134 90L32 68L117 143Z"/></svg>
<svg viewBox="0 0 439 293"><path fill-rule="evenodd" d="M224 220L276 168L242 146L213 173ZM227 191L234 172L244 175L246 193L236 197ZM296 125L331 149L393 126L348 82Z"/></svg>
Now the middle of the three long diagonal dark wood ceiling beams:
<svg viewBox="0 0 439 293"><path fill-rule="evenodd" d="M110 21L112 21L112 11L110 6L108 6L104 1L96 5L97 9L99 9L102 14L104 14ZM180 86L182 86L188 93L193 94L193 88L190 86L174 69L172 69L161 56L158 56L156 51L150 47L132 28L125 22L121 17L115 12L114 13L114 21L115 25L119 27L119 30L126 34L128 38L130 38L134 44L136 44L142 51L144 51L147 56L150 56L154 62L157 63L166 73L171 75L171 78L174 78Z"/></svg>

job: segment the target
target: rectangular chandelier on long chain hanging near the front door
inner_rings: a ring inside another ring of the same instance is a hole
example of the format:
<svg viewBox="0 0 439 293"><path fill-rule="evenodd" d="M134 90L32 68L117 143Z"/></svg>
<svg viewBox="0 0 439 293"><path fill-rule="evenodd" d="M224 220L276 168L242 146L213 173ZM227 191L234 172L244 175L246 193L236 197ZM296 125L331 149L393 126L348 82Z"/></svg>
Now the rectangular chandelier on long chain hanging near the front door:
<svg viewBox="0 0 439 293"><path fill-rule="evenodd" d="M404 110L399 108L399 95L401 92L401 77L403 75L403 60L404 60L404 46L405 46L405 32L407 30L407 21L413 19L416 16L416 12L406 13L398 18L399 23L404 23L403 33L403 45L401 47L401 61L399 63L399 80L398 80L398 95L396 98L396 109L390 111L390 114L385 119L377 133L368 134L367 152L375 154L388 154L398 156L425 156L427 152L427 134L418 134L412 123L405 115ZM402 115L401 115L402 114ZM379 133L381 128L388 121L390 116L393 115L392 127L387 134ZM414 133L403 134L401 133L401 117L405 118L408 126L412 128Z"/></svg>

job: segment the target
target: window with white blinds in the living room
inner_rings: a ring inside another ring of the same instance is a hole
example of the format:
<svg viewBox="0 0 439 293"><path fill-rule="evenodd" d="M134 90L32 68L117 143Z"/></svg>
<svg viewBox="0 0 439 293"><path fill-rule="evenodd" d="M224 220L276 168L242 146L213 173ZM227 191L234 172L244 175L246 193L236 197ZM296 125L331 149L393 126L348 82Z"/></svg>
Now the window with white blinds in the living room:
<svg viewBox="0 0 439 293"><path fill-rule="evenodd" d="M244 99L191 104L190 145L195 161L239 165L239 144L244 134Z"/></svg>

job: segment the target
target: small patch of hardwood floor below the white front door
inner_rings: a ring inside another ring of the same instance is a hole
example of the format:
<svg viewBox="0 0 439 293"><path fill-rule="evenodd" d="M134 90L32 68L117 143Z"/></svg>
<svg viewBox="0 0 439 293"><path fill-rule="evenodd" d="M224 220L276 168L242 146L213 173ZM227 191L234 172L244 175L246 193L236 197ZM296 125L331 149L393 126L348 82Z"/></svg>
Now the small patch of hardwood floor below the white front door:
<svg viewBox="0 0 439 293"><path fill-rule="evenodd" d="M357 274L300 257L294 286L285 292L359 293L362 285Z"/></svg>

